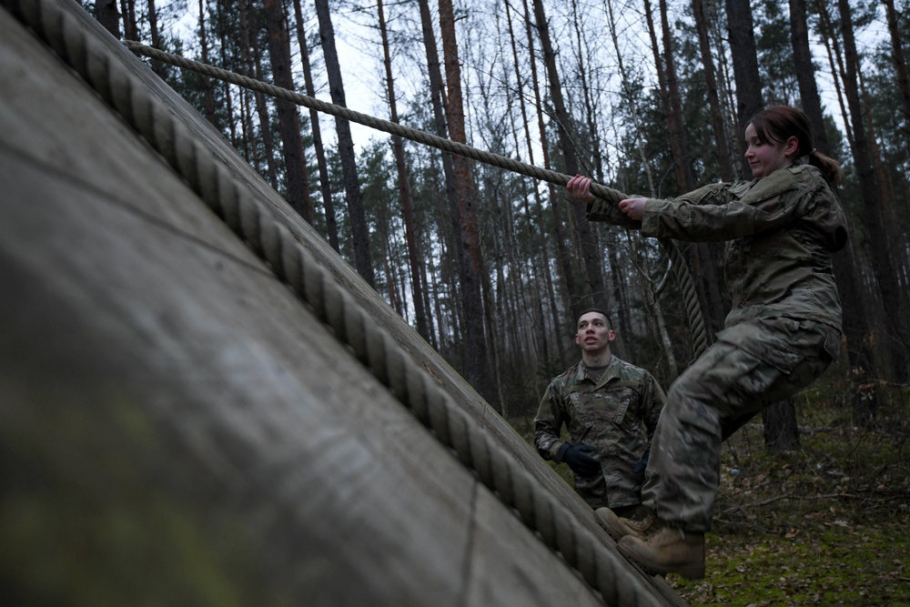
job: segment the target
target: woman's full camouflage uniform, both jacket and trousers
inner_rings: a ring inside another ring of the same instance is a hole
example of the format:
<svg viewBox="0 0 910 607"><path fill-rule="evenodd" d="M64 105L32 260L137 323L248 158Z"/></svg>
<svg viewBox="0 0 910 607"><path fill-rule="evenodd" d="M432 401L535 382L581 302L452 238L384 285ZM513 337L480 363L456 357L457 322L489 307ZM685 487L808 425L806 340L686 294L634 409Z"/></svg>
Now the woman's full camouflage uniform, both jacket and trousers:
<svg viewBox="0 0 910 607"><path fill-rule="evenodd" d="M649 199L642 234L731 241L726 329L673 382L642 492L662 521L709 531L724 429L803 389L840 349L831 256L846 243L844 212L804 157L763 179Z"/></svg>

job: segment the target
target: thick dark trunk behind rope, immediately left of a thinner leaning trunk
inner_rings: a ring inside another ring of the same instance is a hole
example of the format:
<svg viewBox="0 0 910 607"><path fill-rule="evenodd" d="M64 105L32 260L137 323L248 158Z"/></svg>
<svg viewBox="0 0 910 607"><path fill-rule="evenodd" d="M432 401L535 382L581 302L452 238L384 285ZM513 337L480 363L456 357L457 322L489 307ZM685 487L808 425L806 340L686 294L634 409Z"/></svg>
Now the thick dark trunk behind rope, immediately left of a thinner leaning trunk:
<svg viewBox="0 0 910 607"><path fill-rule="evenodd" d="M290 43L288 19L281 0L263 0L268 33L268 55L271 57L272 79L277 86L294 90L290 72ZM288 203L308 224L313 223L313 203L309 199L307 160L300 138L300 115L297 106L284 99L276 99L278 130L285 159L285 181Z"/></svg>

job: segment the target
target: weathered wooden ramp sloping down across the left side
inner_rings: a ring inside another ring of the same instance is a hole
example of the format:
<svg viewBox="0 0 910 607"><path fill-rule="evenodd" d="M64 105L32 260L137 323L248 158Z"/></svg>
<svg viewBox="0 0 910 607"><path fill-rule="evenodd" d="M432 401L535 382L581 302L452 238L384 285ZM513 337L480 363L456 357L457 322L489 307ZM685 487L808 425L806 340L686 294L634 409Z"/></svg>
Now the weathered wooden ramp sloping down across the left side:
<svg viewBox="0 0 910 607"><path fill-rule="evenodd" d="M0 4L5 604L682 604L76 3ZM280 259L318 266L344 313L404 353L409 381L430 378L451 432L86 84L99 64L252 194L259 227L283 227Z"/></svg>

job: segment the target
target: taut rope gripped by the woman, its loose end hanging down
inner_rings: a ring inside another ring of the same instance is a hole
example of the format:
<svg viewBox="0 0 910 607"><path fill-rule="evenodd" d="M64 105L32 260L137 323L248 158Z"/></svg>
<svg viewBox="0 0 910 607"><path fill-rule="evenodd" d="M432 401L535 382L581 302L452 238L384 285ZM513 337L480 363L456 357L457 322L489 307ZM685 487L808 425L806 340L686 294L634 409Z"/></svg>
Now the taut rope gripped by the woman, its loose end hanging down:
<svg viewBox="0 0 910 607"><path fill-rule="evenodd" d="M360 112L355 112L348 107L336 106L325 101L320 101L315 97L301 95L300 93L288 90L287 88L270 85L267 82L255 80L248 76L243 76L235 72L228 72L227 70L221 69L220 67L209 66L192 59L187 59L187 57L184 56L167 53L157 48L153 48L152 46L146 46L133 40L125 40L124 44L131 51L136 53L136 55L147 56L152 59L157 59L163 63L170 64L172 66L183 67L184 69L197 72L197 74L210 76L237 86L244 86L268 96L284 99L285 101L289 101L290 103L296 104L298 106L304 106L308 109L316 110L324 114L329 114L330 116L343 118L351 122L356 122L359 125L369 126L370 128L375 128L391 135L404 137L406 139L410 139L410 141L415 141L420 144L436 147L443 151L450 152L451 154L458 154L459 156L468 157L472 160L477 160L492 167L504 168L526 177L533 177L535 179L541 179L542 181L556 184L557 186L565 186L569 183L569 179L571 178L564 173L551 171L546 168L535 167L533 165L523 163L520 160L515 160L514 158L500 156L499 154L493 154L476 147L470 147L465 144L452 141L451 139L446 139L445 137L431 135L425 131L420 131L408 126L401 126L396 122L383 120L381 118L369 116L367 114L361 114ZM622 192L613 189L612 187L606 187L598 183L591 183L591 193L594 194L594 196L602 198L603 200L606 200L612 204L615 204L623 198L628 197ZM626 218L622 213L617 213L615 217L611 218L610 223L616 226L622 226L623 228L638 228L640 225L639 222L633 221L630 218ZM708 339L704 329L704 321L702 318L701 308L699 307L698 297L695 294L695 286L693 284L692 275L689 272L689 266L682 258L682 254L680 253L679 248L673 244L672 240L669 238L662 238L660 242L666 251L667 256L670 258L673 273L676 276L677 283L679 284L680 291L682 292L682 299L689 316L689 325L692 329L695 356L700 356L708 347Z"/></svg>

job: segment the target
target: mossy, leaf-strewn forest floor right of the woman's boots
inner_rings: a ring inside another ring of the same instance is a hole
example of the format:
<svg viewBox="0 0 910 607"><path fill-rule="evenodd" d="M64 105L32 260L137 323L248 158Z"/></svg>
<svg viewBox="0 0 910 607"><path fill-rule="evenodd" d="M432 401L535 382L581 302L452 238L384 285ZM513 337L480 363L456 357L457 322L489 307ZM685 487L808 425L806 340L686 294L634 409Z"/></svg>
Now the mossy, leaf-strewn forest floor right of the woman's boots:
<svg viewBox="0 0 910 607"><path fill-rule="evenodd" d="M910 606L910 411L864 430L819 400L797 399L795 450L767 453L760 418L723 444L706 577L667 576L683 601Z"/></svg>

